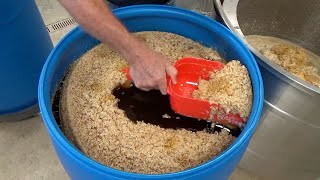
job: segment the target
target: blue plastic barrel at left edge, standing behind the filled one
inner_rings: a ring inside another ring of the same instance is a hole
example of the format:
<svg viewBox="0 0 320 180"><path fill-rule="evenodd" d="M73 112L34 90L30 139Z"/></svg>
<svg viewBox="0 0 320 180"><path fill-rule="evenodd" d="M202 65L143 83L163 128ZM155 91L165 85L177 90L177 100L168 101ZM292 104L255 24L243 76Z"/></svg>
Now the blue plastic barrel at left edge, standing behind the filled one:
<svg viewBox="0 0 320 180"><path fill-rule="evenodd" d="M34 0L0 3L0 121L38 111L41 69L53 45Z"/></svg>

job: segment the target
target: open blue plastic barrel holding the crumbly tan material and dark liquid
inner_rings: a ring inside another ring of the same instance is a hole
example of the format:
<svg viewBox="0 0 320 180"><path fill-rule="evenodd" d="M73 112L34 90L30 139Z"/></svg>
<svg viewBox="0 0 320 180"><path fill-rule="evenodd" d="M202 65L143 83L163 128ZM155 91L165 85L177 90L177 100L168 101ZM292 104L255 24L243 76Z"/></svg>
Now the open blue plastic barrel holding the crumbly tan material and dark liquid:
<svg viewBox="0 0 320 180"><path fill-rule="evenodd" d="M57 125L51 100L59 81L70 65L99 41L80 28L75 28L55 47L42 70L39 104L56 153L71 179L227 179L245 152L261 115L263 84L258 66L245 45L228 29L203 15L170 6L132 6L114 11L132 31L166 31L191 38L217 49L227 60L239 59L247 68L253 86L253 107L240 136L216 158L197 167L169 174L128 173L104 166L80 152Z"/></svg>

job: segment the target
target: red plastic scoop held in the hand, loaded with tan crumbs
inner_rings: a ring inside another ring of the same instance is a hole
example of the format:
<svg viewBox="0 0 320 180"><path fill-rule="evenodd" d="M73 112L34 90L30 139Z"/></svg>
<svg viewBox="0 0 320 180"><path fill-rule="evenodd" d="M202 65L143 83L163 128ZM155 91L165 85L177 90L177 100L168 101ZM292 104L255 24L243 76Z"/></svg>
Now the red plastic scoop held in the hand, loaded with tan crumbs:
<svg viewBox="0 0 320 180"><path fill-rule="evenodd" d="M176 113L239 127L245 124L246 121L239 114L222 113L222 117L217 114L210 117L210 107L215 107L224 112L223 108L218 104L210 104L209 101L192 97L192 92L198 88L199 79L208 80L210 72L223 68L223 63L197 58L183 58L178 60L174 66L178 70L177 84L172 84L171 79L168 78L168 94L171 108ZM124 72L127 74L127 78L131 80L128 68L125 68Z"/></svg>

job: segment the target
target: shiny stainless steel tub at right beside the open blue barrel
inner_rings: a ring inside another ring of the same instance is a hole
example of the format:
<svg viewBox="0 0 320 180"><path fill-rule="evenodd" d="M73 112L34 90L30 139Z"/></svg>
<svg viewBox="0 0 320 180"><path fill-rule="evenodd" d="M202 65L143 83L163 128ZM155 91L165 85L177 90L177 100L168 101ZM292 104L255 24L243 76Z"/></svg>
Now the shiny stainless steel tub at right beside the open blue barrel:
<svg viewBox="0 0 320 180"><path fill-rule="evenodd" d="M240 166L272 179L320 177L320 89L282 70L245 40L287 39L320 55L319 0L214 0L218 15L256 56L265 109Z"/></svg>

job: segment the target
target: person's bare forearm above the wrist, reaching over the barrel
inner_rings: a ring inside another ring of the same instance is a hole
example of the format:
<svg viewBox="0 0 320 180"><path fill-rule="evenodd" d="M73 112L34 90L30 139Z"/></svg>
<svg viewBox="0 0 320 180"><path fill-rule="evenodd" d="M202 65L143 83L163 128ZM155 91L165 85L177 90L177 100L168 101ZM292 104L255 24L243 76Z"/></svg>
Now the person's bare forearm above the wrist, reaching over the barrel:
<svg viewBox="0 0 320 180"><path fill-rule="evenodd" d="M130 57L139 56L139 47L143 44L116 19L104 0L59 1L81 27L103 43L111 45L128 61L134 59Z"/></svg>

